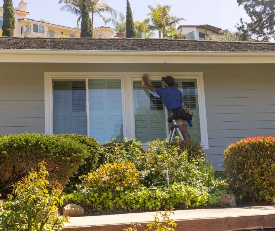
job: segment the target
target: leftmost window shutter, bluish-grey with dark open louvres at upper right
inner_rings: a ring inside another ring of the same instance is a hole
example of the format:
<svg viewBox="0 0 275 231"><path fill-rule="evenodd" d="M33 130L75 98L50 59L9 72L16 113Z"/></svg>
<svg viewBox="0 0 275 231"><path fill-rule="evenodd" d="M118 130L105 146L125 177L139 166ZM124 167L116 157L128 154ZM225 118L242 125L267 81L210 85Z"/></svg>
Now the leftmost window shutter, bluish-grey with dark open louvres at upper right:
<svg viewBox="0 0 275 231"><path fill-rule="evenodd" d="M85 81L54 81L54 134L87 135Z"/></svg>

